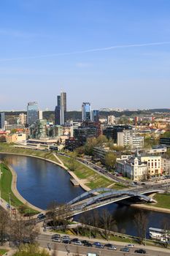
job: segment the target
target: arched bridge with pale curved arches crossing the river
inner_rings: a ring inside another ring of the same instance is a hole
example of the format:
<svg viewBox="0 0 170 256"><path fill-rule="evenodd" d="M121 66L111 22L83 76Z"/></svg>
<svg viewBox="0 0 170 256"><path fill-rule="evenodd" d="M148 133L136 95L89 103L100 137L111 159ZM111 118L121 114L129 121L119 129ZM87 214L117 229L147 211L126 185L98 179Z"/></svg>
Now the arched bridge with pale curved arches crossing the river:
<svg viewBox="0 0 170 256"><path fill-rule="evenodd" d="M98 188L92 189L82 195L74 198L69 203L67 203L67 214L68 217L73 217L77 214L81 214L85 211L90 211L95 208L106 206L110 203L116 203L121 200L128 198L134 198L140 201L140 203L152 203L151 197L147 196L154 192L162 192L160 189L147 189L147 190L115 190L109 188Z"/></svg>

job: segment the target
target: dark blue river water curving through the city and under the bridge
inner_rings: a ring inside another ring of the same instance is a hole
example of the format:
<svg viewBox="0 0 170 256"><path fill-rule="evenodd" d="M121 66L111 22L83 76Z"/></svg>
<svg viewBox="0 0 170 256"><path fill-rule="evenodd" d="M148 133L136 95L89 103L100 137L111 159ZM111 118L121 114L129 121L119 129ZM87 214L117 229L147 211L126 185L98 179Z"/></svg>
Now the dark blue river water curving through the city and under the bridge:
<svg viewBox="0 0 170 256"><path fill-rule="evenodd" d="M26 200L42 209L46 209L50 202L66 203L83 191L80 187L74 187L70 182L69 173L53 163L33 157L21 157L14 155L0 155L7 158L9 165L18 174L18 192ZM129 235L136 236L134 216L142 211L139 208L112 203L101 207L98 211L107 208L112 213L117 223L117 231L122 230ZM170 214L155 211L145 211L148 219L148 227L161 227L163 219L170 222ZM77 217L78 219L79 217Z"/></svg>

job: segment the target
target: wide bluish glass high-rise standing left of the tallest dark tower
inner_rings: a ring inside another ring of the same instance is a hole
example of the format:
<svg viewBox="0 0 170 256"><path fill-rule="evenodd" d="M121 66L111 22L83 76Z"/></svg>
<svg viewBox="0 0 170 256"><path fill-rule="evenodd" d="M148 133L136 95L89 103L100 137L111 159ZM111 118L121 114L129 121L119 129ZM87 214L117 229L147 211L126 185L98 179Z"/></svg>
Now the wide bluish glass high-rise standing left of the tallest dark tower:
<svg viewBox="0 0 170 256"><path fill-rule="evenodd" d="M37 102L28 102L27 105L27 124L34 124L39 119L39 109Z"/></svg>

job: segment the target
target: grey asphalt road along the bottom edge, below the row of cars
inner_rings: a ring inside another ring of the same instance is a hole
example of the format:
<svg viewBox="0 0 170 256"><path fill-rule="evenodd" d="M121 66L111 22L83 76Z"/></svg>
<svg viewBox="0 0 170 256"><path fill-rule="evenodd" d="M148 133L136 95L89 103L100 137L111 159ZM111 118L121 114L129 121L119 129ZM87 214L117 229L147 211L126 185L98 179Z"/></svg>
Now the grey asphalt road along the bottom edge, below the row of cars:
<svg viewBox="0 0 170 256"><path fill-rule="evenodd" d="M116 245L117 250L112 251L109 249L97 249L94 247L86 247L86 246L76 246L72 244L61 244L51 241L51 236L42 234L37 239L40 246L47 248L47 244L50 244L51 249L56 249L57 251L61 252L72 252L72 253L80 253L82 255L87 255L88 252L97 253L99 256L129 256L129 255L141 255L138 253L134 253L136 249L142 248L147 251L146 255L150 256L168 256L170 255L170 250L168 249L161 249L155 247L154 249L150 246L137 246L130 249L130 252L120 252L120 248L123 248L123 245ZM115 244L115 243L114 243ZM124 243L125 244L125 243ZM69 255L69 254L68 254Z"/></svg>

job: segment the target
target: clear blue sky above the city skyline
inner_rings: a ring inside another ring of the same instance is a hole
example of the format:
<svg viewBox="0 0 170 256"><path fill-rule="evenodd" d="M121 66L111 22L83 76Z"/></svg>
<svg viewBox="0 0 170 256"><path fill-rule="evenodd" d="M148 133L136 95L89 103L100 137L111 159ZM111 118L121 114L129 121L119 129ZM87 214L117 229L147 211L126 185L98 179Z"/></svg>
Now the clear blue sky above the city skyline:
<svg viewBox="0 0 170 256"><path fill-rule="evenodd" d="M61 89L69 110L169 108L169 13L169 0L1 0L0 110L53 110Z"/></svg>

